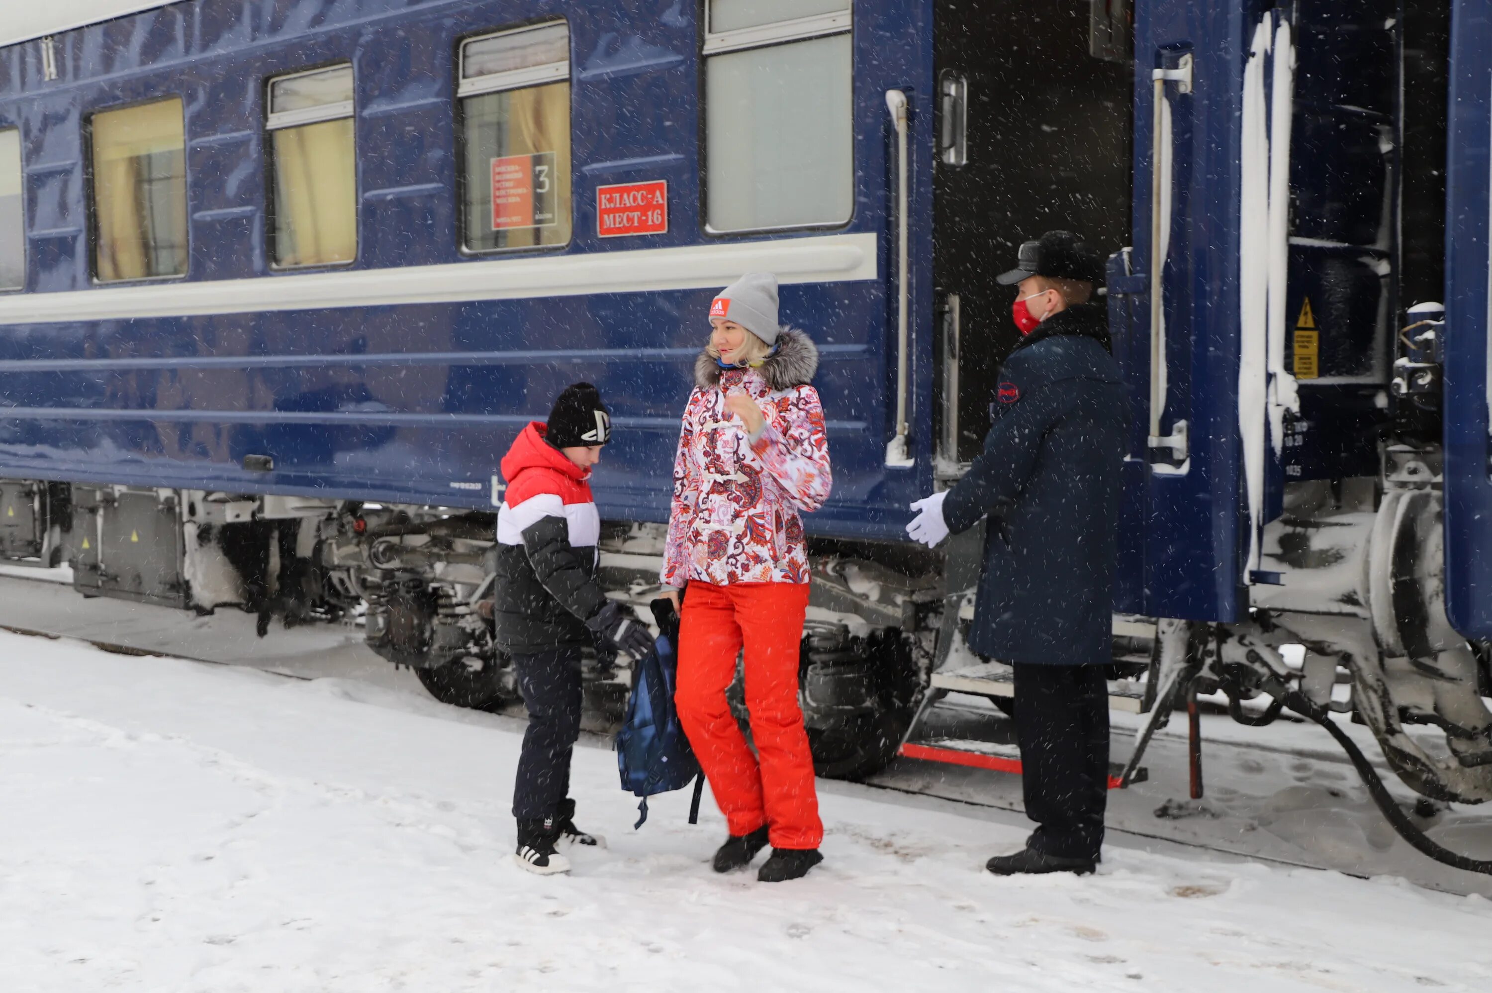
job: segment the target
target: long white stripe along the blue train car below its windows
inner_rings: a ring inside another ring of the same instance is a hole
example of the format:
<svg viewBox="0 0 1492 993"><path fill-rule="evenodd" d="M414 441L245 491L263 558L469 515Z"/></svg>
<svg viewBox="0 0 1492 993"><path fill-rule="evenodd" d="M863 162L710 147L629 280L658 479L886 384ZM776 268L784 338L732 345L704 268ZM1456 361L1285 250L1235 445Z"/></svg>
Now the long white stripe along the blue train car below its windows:
<svg viewBox="0 0 1492 993"><path fill-rule="evenodd" d="M782 284L861 282L877 278L877 258L876 234L827 234L252 279L151 282L4 296L0 297L0 326L718 290L746 272L774 272Z"/></svg>

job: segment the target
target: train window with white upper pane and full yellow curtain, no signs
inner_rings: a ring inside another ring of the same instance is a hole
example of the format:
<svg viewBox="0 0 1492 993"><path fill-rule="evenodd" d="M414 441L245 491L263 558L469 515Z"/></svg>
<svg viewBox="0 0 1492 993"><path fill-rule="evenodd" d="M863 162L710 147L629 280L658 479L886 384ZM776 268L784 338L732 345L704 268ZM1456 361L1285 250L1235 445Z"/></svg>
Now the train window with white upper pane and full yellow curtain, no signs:
<svg viewBox="0 0 1492 993"><path fill-rule="evenodd" d="M333 266L358 254L352 66L270 81L270 258L278 267Z"/></svg>

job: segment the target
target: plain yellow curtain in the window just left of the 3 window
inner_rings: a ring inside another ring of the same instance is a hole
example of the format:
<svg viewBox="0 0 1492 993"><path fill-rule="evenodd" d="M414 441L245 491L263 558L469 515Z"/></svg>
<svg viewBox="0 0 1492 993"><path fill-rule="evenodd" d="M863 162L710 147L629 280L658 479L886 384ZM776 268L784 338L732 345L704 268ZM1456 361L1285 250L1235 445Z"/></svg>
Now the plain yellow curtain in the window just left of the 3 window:
<svg viewBox="0 0 1492 993"><path fill-rule="evenodd" d="M330 266L357 252L352 118L275 131L275 263Z"/></svg>

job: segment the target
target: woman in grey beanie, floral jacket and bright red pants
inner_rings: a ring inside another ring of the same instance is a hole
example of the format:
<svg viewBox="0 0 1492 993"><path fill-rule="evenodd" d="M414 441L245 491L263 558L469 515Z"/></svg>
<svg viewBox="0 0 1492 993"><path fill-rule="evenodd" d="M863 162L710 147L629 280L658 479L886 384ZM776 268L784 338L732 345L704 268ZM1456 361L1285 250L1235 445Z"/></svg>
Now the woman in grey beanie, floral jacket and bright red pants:
<svg viewBox="0 0 1492 993"><path fill-rule="evenodd" d="M777 324L777 279L749 273L710 306L673 470L665 585L688 587L679 632L679 718L730 839L715 871L742 869L771 842L758 878L818 865L824 826L798 708L809 606L800 511L830 496L824 408L809 385L819 354ZM725 700L745 648L752 754Z"/></svg>

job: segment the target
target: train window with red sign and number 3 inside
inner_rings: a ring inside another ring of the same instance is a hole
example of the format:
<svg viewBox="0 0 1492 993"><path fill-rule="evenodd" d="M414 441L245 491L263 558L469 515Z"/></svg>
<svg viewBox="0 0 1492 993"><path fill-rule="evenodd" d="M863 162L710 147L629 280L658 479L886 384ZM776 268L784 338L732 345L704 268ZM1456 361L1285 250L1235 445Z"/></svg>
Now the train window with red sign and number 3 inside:
<svg viewBox="0 0 1492 993"><path fill-rule="evenodd" d="M568 245L570 27L466 42L457 96L466 249Z"/></svg>

